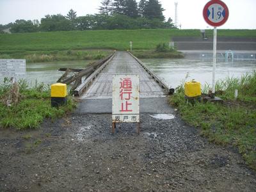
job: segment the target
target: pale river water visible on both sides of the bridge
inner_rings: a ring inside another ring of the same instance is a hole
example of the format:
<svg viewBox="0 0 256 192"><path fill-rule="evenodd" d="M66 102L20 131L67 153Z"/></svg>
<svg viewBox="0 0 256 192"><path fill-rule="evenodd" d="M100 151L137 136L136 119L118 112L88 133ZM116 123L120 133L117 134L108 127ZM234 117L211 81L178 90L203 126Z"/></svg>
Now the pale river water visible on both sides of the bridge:
<svg viewBox="0 0 256 192"><path fill-rule="evenodd" d="M209 61L186 59L147 59L142 60L153 72L163 78L173 88L179 86L182 81L195 79L203 85L212 82L212 63ZM54 61L47 63L28 63L26 80L29 84L44 82L56 83L64 72L58 68L83 68L92 61ZM246 72L256 70L256 61L239 61L239 63L217 63L216 80L226 77L240 77ZM3 80L3 78L1 78Z"/></svg>

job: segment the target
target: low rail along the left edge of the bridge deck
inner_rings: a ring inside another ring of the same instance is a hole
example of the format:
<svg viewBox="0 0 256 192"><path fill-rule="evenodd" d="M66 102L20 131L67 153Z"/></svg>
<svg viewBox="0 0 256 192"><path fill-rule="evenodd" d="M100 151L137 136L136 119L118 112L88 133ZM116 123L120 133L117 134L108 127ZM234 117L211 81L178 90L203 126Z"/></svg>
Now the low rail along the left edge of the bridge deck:
<svg viewBox="0 0 256 192"><path fill-rule="evenodd" d="M115 54L116 54L116 52L103 65L101 65L99 68L97 68L97 70L95 70L95 72L93 72L89 77L87 77L83 83L81 83L79 86L77 86L76 90L74 90L74 96L79 97L81 95L81 93L83 93L83 91L90 85L90 83L92 83L92 81L95 79L95 77L97 77L97 75L113 59Z"/></svg>

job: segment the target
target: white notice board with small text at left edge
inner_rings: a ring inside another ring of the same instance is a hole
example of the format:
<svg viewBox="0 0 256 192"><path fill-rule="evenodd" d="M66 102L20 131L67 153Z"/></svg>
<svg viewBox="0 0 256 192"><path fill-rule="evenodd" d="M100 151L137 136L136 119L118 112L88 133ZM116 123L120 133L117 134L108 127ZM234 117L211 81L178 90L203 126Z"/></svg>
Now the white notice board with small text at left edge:
<svg viewBox="0 0 256 192"><path fill-rule="evenodd" d="M0 77L26 77L26 60L0 60Z"/></svg>

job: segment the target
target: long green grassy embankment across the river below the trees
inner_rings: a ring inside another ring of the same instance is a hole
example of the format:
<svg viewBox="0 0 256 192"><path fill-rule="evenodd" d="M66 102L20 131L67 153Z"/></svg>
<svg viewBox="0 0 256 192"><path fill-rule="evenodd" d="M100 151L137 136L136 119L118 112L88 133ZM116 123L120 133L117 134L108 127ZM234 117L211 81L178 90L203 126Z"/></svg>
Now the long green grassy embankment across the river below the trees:
<svg viewBox="0 0 256 192"><path fill-rule="evenodd" d="M207 30L211 36L212 30ZM256 36L256 30L218 30L218 36ZM26 58L28 62L92 60L103 58L106 50L125 51L133 42L140 58L179 58L179 52L154 52L158 44L173 36L198 36L198 29L141 29L108 31L60 31L0 35L0 58ZM101 50L101 51L98 51Z"/></svg>

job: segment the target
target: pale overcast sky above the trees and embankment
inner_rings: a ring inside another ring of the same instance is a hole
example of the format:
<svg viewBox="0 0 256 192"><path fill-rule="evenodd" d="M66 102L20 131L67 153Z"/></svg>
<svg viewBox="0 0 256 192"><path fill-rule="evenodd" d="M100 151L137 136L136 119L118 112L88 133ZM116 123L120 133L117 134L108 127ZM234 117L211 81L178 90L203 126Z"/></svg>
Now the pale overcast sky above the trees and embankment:
<svg viewBox="0 0 256 192"><path fill-rule="evenodd" d="M77 16L98 13L101 0L0 0L0 24L8 24L16 19L40 20L47 14L67 15L72 8ZM178 2L178 24L182 29L205 29L202 10L209 0L160 0L164 16L174 22L174 3ZM256 0L223 0L229 8L229 19L222 29L256 29ZM139 1L137 1L139 2ZM209 27L212 28L212 27Z"/></svg>

